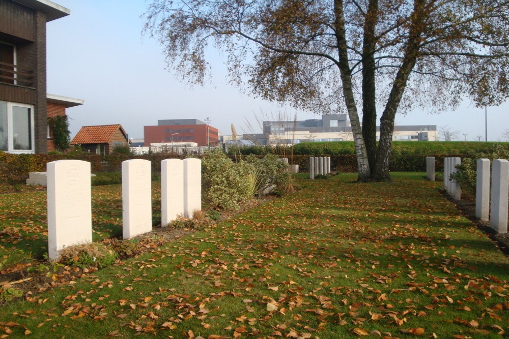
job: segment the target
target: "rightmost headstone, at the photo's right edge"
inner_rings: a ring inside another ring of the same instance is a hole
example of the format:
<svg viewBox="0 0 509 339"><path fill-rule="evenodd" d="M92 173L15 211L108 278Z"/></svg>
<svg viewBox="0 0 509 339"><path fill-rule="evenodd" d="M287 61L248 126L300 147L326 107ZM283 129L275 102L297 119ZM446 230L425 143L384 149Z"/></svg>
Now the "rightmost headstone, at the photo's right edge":
<svg viewBox="0 0 509 339"><path fill-rule="evenodd" d="M507 197L509 196L509 161L493 160L490 226L498 233L507 233Z"/></svg>

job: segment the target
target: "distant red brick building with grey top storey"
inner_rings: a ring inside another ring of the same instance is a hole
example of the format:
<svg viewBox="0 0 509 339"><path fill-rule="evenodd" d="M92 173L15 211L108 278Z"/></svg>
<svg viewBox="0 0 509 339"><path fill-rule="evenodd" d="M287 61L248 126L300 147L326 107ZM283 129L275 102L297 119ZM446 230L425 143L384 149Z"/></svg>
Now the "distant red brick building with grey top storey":
<svg viewBox="0 0 509 339"><path fill-rule="evenodd" d="M144 145L168 142L195 142L198 146L215 145L219 130L198 119L157 120L157 126L143 127Z"/></svg>

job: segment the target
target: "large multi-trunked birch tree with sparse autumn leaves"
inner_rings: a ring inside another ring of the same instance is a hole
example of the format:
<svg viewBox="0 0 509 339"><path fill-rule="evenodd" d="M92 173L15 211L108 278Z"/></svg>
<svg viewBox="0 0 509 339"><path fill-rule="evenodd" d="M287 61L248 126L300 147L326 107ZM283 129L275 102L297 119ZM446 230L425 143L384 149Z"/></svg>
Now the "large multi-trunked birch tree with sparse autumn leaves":
<svg viewBox="0 0 509 339"><path fill-rule="evenodd" d="M502 0L153 0L145 30L189 81L212 43L252 95L347 112L359 180L381 181L398 111L506 100L507 13Z"/></svg>

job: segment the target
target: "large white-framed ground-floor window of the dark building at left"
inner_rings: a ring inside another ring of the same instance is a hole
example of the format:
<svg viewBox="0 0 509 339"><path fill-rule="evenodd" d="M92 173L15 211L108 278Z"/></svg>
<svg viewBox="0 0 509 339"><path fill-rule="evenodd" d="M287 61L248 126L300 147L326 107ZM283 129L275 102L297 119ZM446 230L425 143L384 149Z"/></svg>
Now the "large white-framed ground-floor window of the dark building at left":
<svg viewBox="0 0 509 339"><path fill-rule="evenodd" d="M34 106L0 101L0 150L34 153Z"/></svg>

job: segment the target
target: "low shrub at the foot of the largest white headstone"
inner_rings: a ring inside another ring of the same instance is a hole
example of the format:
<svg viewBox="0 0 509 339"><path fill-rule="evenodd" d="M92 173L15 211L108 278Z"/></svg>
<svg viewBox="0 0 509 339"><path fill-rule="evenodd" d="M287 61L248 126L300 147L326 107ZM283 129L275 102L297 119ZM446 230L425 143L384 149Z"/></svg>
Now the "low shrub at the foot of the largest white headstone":
<svg viewBox="0 0 509 339"><path fill-rule="evenodd" d="M115 263L115 260L117 253L97 242L68 246L60 251L57 259L62 264L81 268L103 268Z"/></svg>

